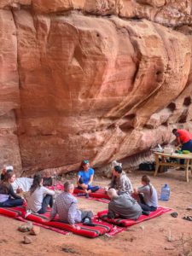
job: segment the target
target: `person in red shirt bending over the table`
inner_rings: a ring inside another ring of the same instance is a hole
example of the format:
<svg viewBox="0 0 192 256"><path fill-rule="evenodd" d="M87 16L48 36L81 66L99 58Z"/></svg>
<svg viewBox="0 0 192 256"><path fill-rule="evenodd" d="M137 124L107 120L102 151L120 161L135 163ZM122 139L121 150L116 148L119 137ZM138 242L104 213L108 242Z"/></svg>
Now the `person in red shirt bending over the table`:
<svg viewBox="0 0 192 256"><path fill-rule="evenodd" d="M172 133L176 136L176 146L182 145L181 150L189 150L192 153L192 133L186 130L173 129ZM180 160L184 164L184 160Z"/></svg>

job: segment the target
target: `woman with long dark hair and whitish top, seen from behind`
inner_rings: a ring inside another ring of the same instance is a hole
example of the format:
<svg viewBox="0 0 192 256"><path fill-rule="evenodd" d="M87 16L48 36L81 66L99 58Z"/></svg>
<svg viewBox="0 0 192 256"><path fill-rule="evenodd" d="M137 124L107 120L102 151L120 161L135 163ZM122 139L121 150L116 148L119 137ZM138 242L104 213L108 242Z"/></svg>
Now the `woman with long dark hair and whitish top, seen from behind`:
<svg viewBox="0 0 192 256"><path fill-rule="evenodd" d="M45 188L43 182L41 174L36 174L33 177L32 187L26 196L26 216L31 212L43 214L47 211L48 206L53 206L55 191Z"/></svg>

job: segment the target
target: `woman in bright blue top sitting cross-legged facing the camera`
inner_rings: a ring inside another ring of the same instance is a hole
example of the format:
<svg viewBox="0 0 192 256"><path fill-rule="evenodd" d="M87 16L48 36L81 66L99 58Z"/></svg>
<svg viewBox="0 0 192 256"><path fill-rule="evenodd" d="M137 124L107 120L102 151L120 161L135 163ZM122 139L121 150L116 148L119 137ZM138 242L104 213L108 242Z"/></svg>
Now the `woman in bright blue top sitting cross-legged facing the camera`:
<svg viewBox="0 0 192 256"><path fill-rule="evenodd" d="M88 160L81 162L78 173L78 188L83 189L85 196L89 197L89 192L96 192L99 186L92 187L92 181L94 176L94 170L90 168Z"/></svg>

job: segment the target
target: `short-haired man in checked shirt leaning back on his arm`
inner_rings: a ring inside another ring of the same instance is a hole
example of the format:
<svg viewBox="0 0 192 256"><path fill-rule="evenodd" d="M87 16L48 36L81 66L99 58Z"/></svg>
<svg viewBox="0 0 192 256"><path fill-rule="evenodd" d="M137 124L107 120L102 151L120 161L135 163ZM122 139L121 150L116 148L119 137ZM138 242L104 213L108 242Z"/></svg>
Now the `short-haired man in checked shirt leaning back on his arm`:
<svg viewBox="0 0 192 256"><path fill-rule="evenodd" d="M79 229L75 224L80 222L90 223L93 212L78 209L78 201L73 196L73 190L73 183L64 183L64 192L56 197L50 212L50 220L53 220L58 213L59 219L62 222L70 224L73 229Z"/></svg>

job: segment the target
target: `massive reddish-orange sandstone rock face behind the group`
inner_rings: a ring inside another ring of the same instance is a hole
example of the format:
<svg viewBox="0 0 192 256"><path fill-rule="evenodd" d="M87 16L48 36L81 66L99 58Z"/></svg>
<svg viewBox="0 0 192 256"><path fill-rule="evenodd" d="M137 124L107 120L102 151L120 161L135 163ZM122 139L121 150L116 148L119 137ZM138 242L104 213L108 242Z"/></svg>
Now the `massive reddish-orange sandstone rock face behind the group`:
<svg viewBox="0 0 192 256"><path fill-rule="evenodd" d="M190 13L188 0L1 1L0 163L103 166L190 129Z"/></svg>

